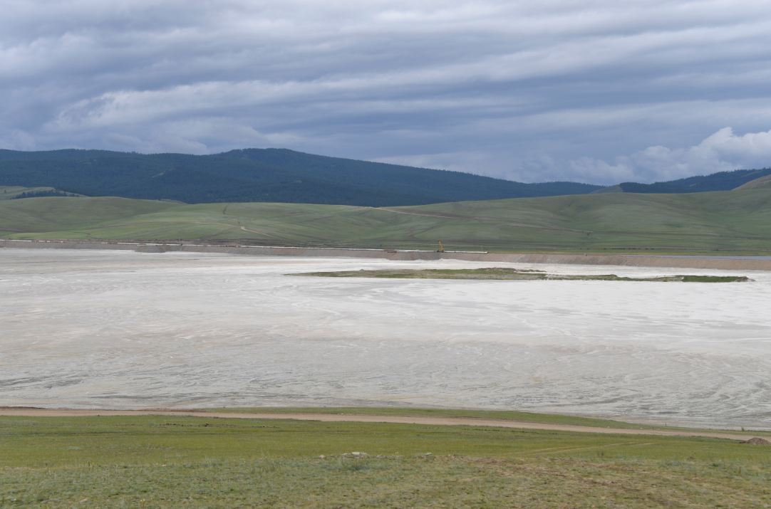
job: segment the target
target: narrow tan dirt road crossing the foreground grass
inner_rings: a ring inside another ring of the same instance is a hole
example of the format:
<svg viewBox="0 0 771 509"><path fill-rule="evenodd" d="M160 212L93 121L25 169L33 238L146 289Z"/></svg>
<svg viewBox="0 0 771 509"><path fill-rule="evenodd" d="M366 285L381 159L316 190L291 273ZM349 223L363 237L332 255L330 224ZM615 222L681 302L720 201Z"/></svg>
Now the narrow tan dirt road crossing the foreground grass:
<svg viewBox="0 0 771 509"><path fill-rule="evenodd" d="M577 433L601 433L619 435L655 435L659 437L705 437L726 440L747 440L753 435L733 434L722 431L691 430L635 430L612 427L575 426L571 424L542 424L519 420L480 419L475 417L406 417L343 414L259 414L237 412L206 412L201 410L72 410L43 408L2 408L0 416L21 417L96 417L169 415L175 417L210 417L217 419L290 419L316 420L320 422L424 424L428 426L482 426L507 427L523 430L570 431ZM769 437L769 434L757 434ZM769 437L771 438L771 437Z"/></svg>

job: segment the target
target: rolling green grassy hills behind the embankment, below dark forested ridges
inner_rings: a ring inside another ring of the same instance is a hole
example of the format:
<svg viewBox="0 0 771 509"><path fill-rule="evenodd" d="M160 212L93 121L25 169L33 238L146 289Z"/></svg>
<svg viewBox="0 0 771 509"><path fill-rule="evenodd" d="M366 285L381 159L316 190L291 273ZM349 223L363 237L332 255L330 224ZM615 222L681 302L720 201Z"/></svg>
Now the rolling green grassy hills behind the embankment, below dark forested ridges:
<svg viewBox="0 0 771 509"><path fill-rule="evenodd" d="M380 209L30 198L0 202L0 235L421 249L442 239L448 249L493 251L763 252L771 249L771 193L608 193Z"/></svg>

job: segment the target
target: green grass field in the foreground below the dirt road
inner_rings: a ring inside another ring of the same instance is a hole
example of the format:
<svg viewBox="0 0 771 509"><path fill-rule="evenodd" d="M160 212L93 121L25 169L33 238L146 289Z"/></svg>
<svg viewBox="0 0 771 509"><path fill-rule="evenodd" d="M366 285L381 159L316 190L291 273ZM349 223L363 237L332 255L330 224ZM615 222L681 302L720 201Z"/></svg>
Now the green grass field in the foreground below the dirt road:
<svg viewBox="0 0 771 509"><path fill-rule="evenodd" d="M769 507L769 481L769 448L731 440L0 417L2 507Z"/></svg>

